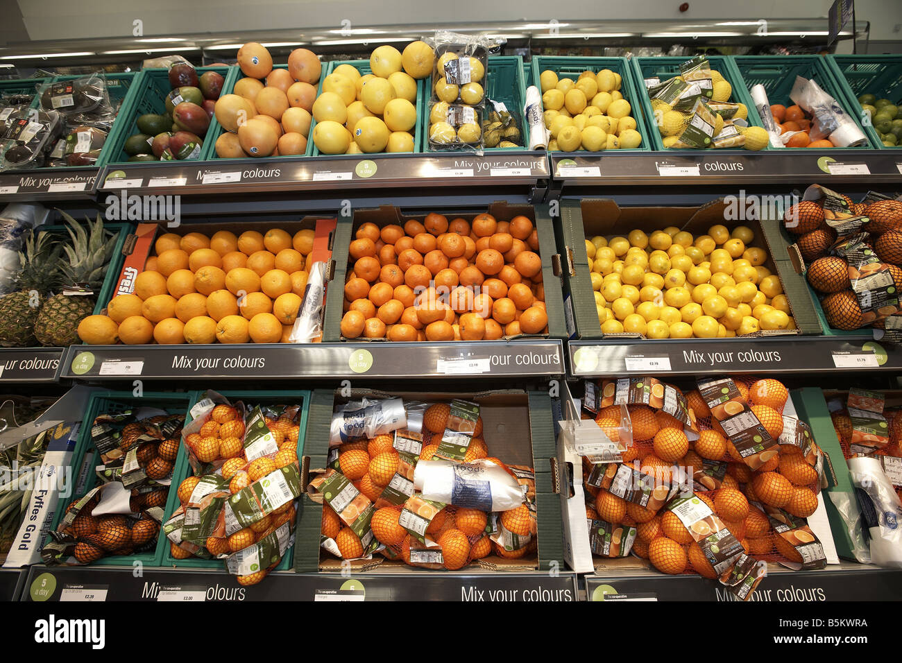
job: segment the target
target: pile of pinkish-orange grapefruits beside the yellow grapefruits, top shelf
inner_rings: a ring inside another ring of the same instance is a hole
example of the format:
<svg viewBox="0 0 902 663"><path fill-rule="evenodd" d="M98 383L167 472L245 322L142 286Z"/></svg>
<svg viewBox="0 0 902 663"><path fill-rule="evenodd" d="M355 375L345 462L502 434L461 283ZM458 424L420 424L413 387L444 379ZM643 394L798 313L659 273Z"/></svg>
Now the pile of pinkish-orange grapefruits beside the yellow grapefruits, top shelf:
<svg viewBox="0 0 902 663"><path fill-rule="evenodd" d="M216 120L226 131L216 138L220 158L268 157L307 152L313 100L321 73L318 57L291 51L288 67L272 66L264 46L249 41L238 50L244 74L230 94L219 97Z"/></svg>

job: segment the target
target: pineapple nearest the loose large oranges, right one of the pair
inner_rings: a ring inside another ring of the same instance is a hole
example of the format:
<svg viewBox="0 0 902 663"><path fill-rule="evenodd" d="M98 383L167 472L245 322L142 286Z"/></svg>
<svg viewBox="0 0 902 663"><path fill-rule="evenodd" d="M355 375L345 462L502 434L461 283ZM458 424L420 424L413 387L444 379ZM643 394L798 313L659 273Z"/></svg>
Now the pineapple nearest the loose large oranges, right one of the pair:
<svg viewBox="0 0 902 663"><path fill-rule="evenodd" d="M60 212L69 227L71 244L65 244L67 261L61 268L60 282L65 286L85 286L100 289L106 276L106 268L115 250L115 235L104 230L104 222L97 215L95 223L80 226L65 212ZM34 322L34 336L41 345L66 347L78 343L78 323L94 313L97 294L53 295L44 302Z"/></svg>

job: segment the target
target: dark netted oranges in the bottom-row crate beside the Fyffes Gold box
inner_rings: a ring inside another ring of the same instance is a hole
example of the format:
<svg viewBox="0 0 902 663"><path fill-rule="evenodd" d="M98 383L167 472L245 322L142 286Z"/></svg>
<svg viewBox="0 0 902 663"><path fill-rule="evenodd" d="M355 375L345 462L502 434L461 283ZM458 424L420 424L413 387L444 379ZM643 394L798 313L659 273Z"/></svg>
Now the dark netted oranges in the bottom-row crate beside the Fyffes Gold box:
<svg viewBox="0 0 902 663"><path fill-rule="evenodd" d="M41 550L45 563L88 564L156 546L185 418L136 416L124 410L95 419L92 443L104 461L96 469L100 484L69 503Z"/></svg>

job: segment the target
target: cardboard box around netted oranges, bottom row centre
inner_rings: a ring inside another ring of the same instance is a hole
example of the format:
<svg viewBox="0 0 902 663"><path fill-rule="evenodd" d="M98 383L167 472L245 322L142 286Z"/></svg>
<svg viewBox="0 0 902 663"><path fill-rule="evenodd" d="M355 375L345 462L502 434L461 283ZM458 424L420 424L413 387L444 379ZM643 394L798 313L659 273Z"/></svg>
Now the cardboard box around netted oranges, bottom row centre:
<svg viewBox="0 0 902 663"><path fill-rule="evenodd" d="M359 401L363 397L400 397L410 401L449 402L465 399L480 405L483 418L483 438L489 454L504 463L529 465L536 474L536 509L538 515L538 554L505 559L491 555L465 566L460 573L491 574L496 571L558 570L564 563L564 540L561 526L560 480L554 458L555 439L551 398L546 391L484 391L484 392L395 392L382 393L352 390L348 396L337 391L313 391L308 414L307 437L301 457L301 480L304 485L313 470L325 468L329 449L329 431L336 403ZM341 559L320 548L323 505L309 493L303 493L298 507L298 527L295 531L294 569L297 573L340 573ZM382 555L370 560L350 563L354 573L363 571L388 573L423 573L423 569L389 561ZM346 567L346 566L344 566ZM447 573L425 571L426 573Z"/></svg>

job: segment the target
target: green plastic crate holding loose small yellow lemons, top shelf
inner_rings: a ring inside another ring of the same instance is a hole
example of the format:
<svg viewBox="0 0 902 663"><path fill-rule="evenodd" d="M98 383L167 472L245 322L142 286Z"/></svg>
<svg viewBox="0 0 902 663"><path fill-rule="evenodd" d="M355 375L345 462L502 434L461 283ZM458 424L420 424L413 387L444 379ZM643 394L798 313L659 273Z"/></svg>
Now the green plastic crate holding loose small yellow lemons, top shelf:
<svg viewBox="0 0 902 663"><path fill-rule="evenodd" d="M635 72L630 68L630 63L626 58L590 58L590 57L569 57L566 55L537 55L532 59L532 85L538 87L541 91L542 84L540 77L543 71L550 69L557 74L558 78L573 78L574 81L579 75L586 70L591 69L598 73L602 69L611 69L613 72L621 75L621 95L630 102L631 114L636 120L636 130L642 134L642 142L640 146L632 150L614 150L615 152L649 152L652 143L649 143L651 129L658 129L654 124L649 124L649 118L653 115L649 114L649 108L641 103L641 97L645 95L645 88L640 85L640 80L635 78ZM589 99L591 102L592 100ZM585 152L590 153L590 152Z"/></svg>

